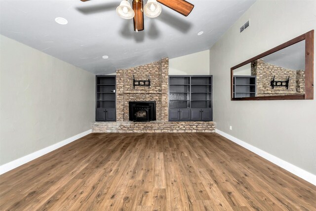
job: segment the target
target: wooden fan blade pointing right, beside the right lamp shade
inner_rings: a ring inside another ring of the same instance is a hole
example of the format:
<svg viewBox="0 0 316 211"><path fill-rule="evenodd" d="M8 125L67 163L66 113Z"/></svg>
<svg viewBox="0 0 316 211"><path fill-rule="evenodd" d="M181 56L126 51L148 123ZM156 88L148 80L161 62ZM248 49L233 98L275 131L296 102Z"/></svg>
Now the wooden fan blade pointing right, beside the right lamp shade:
<svg viewBox="0 0 316 211"><path fill-rule="evenodd" d="M174 11L183 14L184 16L188 16L192 11L194 5L189 3L186 0L157 0L159 3L173 9Z"/></svg>

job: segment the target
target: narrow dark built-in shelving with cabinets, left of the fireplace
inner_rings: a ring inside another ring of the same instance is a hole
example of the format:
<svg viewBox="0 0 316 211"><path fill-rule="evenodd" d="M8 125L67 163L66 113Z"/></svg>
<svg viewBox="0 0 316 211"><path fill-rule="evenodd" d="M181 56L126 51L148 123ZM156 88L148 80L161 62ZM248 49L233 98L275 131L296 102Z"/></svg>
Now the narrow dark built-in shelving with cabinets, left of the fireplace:
<svg viewBox="0 0 316 211"><path fill-rule="evenodd" d="M116 76L96 76L95 121L116 121Z"/></svg>

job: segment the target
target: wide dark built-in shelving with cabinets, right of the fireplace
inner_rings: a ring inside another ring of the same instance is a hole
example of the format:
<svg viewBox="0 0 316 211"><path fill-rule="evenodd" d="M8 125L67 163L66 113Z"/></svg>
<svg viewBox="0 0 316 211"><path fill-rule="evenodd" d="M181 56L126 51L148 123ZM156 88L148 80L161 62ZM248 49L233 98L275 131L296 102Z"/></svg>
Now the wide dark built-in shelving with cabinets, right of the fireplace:
<svg viewBox="0 0 316 211"><path fill-rule="evenodd" d="M169 76L169 121L212 119L212 76Z"/></svg>

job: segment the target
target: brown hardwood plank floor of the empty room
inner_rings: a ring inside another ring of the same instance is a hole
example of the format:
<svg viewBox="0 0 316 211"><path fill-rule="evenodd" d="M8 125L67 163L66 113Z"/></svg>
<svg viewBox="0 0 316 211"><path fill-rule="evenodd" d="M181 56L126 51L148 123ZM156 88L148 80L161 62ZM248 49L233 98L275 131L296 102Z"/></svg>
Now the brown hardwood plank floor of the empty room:
<svg viewBox="0 0 316 211"><path fill-rule="evenodd" d="M0 210L316 210L316 186L216 133L91 133L0 176Z"/></svg>

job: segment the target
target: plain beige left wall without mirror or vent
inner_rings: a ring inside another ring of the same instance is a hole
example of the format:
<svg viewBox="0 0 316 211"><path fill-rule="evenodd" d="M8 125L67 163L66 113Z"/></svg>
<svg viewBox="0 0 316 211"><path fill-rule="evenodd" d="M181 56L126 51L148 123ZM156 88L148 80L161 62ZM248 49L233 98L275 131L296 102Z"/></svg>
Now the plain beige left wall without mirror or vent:
<svg viewBox="0 0 316 211"><path fill-rule="evenodd" d="M0 35L0 165L91 129L95 76Z"/></svg>

